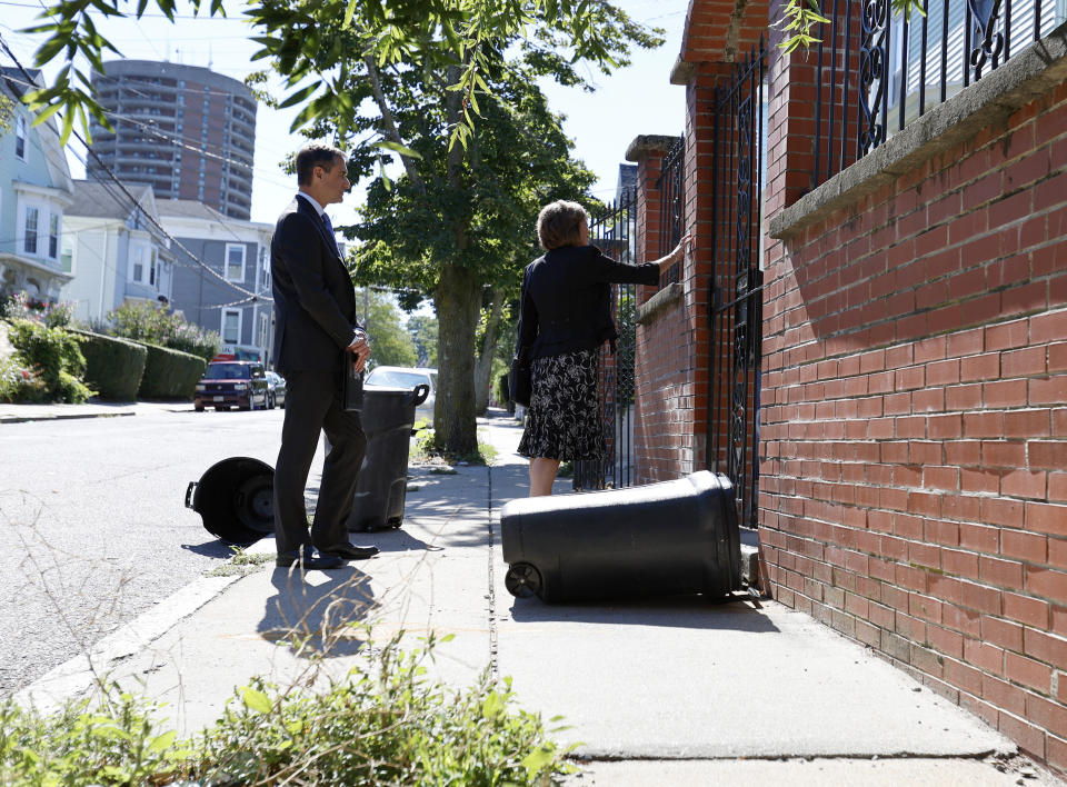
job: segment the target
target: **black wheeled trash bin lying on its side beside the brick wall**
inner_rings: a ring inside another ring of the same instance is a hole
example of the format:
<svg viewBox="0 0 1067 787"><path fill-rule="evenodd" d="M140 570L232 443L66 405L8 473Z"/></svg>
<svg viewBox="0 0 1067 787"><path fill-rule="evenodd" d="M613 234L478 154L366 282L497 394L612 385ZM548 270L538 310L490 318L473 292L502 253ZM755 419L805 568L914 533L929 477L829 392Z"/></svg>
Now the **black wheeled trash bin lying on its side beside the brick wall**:
<svg viewBox="0 0 1067 787"><path fill-rule="evenodd" d="M741 587L734 486L722 474L511 500L500 535L505 585L519 598L726 596Z"/></svg>

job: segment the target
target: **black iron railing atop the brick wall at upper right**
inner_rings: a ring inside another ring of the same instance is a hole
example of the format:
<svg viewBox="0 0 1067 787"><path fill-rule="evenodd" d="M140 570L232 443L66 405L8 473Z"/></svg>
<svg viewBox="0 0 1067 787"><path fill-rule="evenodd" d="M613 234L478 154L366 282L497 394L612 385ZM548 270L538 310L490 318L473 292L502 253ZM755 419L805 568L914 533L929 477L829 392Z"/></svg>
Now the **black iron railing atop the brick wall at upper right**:
<svg viewBox="0 0 1067 787"><path fill-rule="evenodd" d="M821 0L816 51L819 186L1064 21L1064 0Z"/></svg>

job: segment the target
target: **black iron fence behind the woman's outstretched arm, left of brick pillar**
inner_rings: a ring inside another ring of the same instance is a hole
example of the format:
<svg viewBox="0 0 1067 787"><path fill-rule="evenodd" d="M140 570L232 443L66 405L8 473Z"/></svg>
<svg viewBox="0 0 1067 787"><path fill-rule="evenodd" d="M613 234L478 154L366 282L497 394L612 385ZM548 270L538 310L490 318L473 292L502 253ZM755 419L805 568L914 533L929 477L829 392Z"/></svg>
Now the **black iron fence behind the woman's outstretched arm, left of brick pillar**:
<svg viewBox="0 0 1067 787"><path fill-rule="evenodd" d="M637 189L589 216L589 242L619 262L635 263ZM637 288L612 285L611 315L619 329L616 351L600 348L600 415L607 452L604 461L576 461L574 488L606 489L634 482L634 353L637 345Z"/></svg>

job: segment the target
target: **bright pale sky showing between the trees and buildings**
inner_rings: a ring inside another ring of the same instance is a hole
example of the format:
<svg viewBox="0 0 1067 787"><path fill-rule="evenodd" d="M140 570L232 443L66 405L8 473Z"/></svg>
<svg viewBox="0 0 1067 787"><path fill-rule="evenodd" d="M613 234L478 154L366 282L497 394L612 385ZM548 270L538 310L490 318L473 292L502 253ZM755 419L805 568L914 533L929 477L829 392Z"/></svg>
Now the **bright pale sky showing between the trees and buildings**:
<svg viewBox="0 0 1067 787"><path fill-rule="evenodd" d="M637 50L632 64L611 76L590 72L591 81L598 87L594 93L549 82L541 86L552 110L567 117L564 128L574 140L575 156L597 175L594 191L605 200L615 195L619 165L625 162L626 149L635 137L679 135L685 123L685 88L670 84L669 76L681 46L688 0L615 1L635 20L664 28L666 43L651 51ZM149 3L149 8L152 7L153 3ZM140 21L104 20L98 24L123 58L202 66L242 80L262 68L261 62L251 62L259 47L248 40L253 33L238 18L240 4L228 1L226 7L232 9L230 19L193 18L191 7L179 3L179 17L173 24L158 11L147 13ZM27 68L32 66L33 52L42 37L20 31L37 23L36 16L41 8L37 0L0 0L0 36ZM2 53L0 62L13 64ZM54 70L47 69L46 73ZM271 87L280 91L279 82ZM296 109L277 111L259 107L252 175L253 221L273 223L296 191L295 178L281 169L286 155L302 142L302 137L288 132L296 112ZM83 151L72 146L67 158L71 175L84 177ZM355 220L361 199L362 188L356 185L341 206L330 209L333 223Z"/></svg>

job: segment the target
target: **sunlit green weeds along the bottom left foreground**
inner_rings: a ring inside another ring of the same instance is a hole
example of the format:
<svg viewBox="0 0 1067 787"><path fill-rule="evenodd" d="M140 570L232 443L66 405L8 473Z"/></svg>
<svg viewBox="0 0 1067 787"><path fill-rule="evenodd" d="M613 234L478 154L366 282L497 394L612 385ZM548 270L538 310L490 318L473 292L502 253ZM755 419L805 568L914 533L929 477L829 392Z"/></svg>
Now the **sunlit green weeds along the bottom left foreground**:
<svg viewBox="0 0 1067 787"><path fill-rule="evenodd" d="M53 713L4 700L0 784L540 786L575 770L509 679L446 687L426 676L435 637L406 652L400 636L318 691L253 679L185 739L116 685Z"/></svg>

